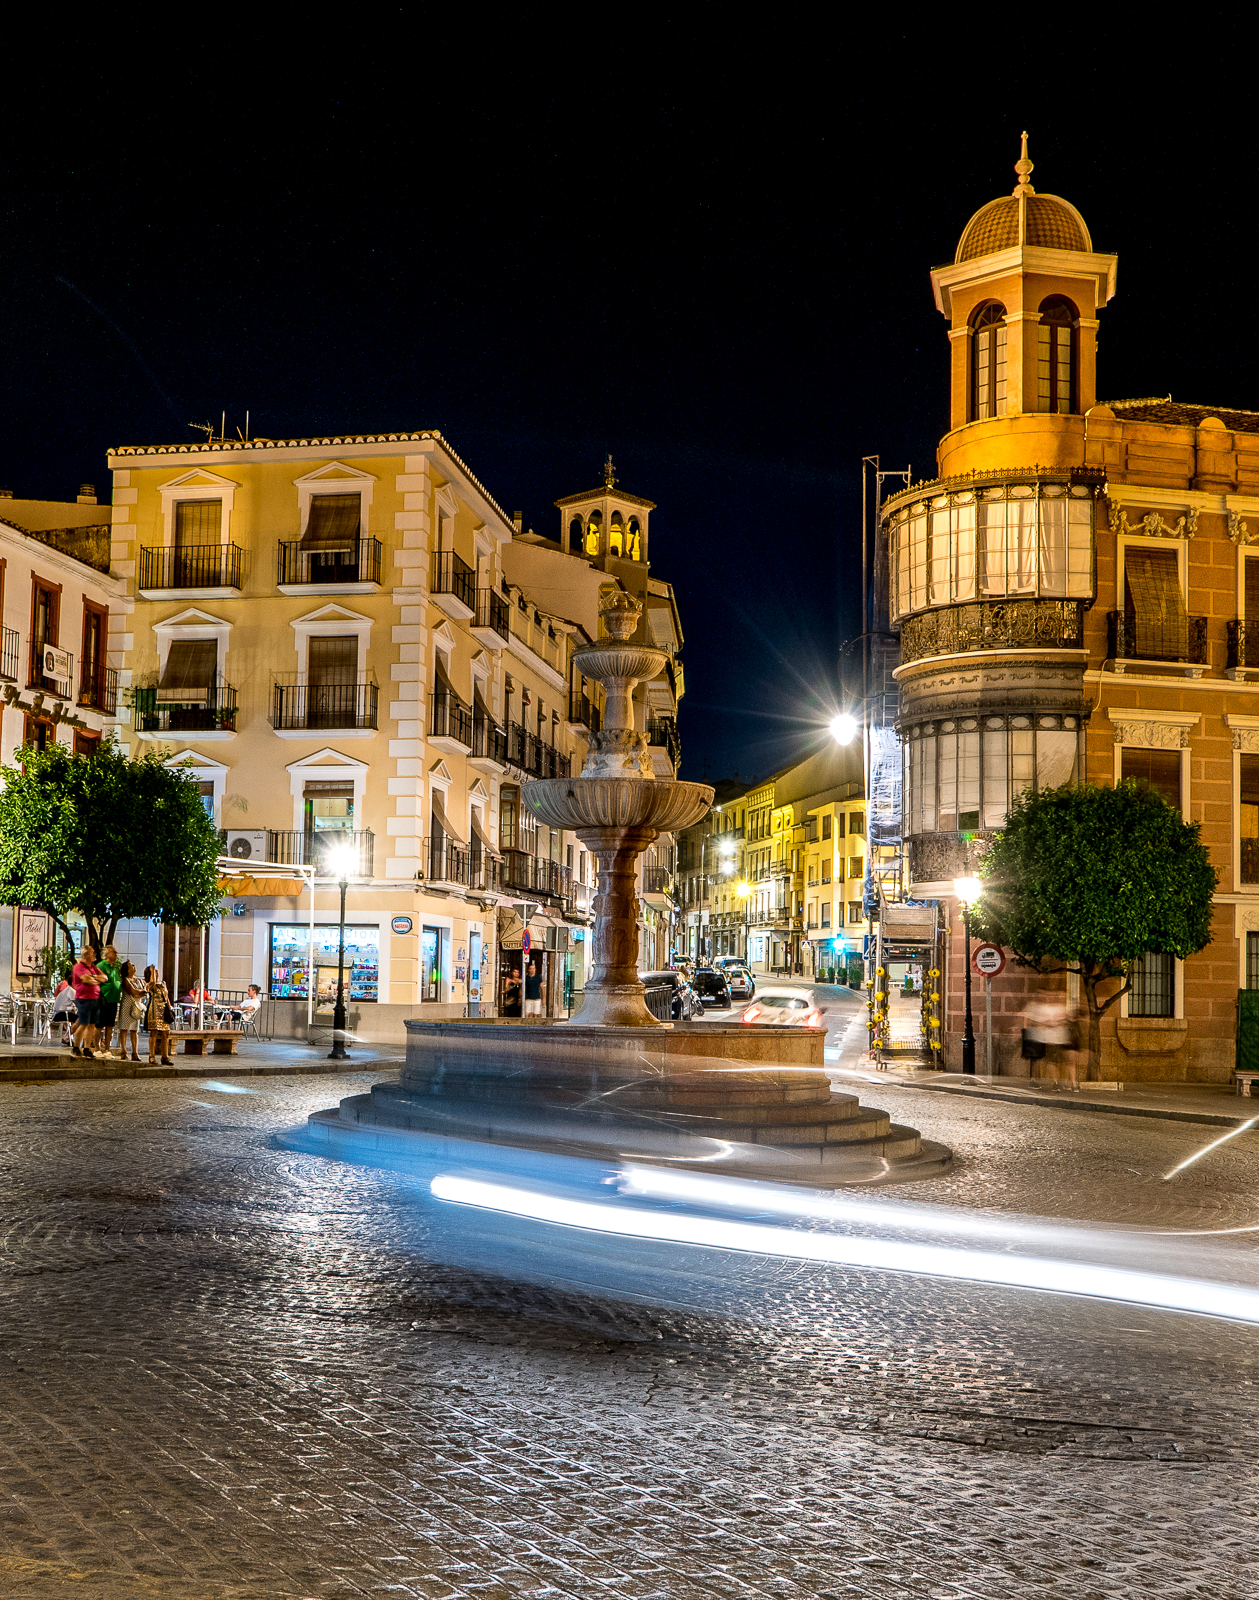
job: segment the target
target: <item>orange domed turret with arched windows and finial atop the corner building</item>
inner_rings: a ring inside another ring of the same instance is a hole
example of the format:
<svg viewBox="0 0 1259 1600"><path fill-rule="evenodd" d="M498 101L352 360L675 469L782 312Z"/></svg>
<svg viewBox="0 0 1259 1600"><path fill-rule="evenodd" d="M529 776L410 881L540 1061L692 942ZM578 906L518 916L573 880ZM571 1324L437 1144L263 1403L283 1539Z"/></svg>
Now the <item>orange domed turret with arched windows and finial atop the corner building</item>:
<svg viewBox="0 0 1259 1600"><path fill-rule="evenodd" d="M952 341L941 477L1085 459L1097 312L1115 293L1118 258L1093 250L1069 200L1035 192L1025 133L1014 171L1013 194L981 206L952 264L931 274Z"/></svg>

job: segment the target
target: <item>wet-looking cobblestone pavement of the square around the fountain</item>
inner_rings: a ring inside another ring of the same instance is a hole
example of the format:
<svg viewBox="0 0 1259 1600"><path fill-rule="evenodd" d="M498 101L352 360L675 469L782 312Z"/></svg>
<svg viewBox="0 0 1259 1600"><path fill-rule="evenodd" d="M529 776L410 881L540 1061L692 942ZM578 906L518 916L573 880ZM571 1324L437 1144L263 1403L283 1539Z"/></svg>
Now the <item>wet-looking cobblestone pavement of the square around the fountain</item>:
<svg viewBox="0 0 1259 1600"><path fill-rule="evenodd" d="M478 1275L414 1186L275 1146L368 1082L3 1091L0 1594L1259 1594L1254 1330L712 1251L702 1310ZM885 1093L958 1150L889 1198L1246 1226L1246 1136L1165 1184L1201 1130Z"/></svg>

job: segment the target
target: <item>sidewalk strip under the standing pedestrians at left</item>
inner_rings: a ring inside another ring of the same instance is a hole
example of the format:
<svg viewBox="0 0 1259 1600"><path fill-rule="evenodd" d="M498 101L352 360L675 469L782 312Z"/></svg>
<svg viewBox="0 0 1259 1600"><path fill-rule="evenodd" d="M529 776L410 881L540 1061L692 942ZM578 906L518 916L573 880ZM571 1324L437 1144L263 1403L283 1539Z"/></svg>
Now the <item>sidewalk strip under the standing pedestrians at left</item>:
<svg viewBox="0 0 1259 1600"><path fill-rule="evenodd" d="M358 1072L363 1067L397 1070L406 1046L357 1045L347 1040L349 1059L330 1061L331 1038L309 1045L301 1038L250 1038L242 1042L235 1056L182 1056L173 1067L149 1066L141 1053L134 1061L104 1061L99 1056L83 1061L48 1043L0 1045L0 1085L5 1083L59 1083L85 1078L240 1078L240 1077L296 1077L336 1072Z"/></svg>

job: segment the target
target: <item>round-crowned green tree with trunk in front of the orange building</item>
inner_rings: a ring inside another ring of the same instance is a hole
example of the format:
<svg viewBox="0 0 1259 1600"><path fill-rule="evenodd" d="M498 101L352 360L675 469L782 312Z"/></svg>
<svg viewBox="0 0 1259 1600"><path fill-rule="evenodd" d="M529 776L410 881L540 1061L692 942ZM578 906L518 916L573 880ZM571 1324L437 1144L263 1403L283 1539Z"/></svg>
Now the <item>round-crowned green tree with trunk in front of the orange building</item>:
<svg viewBox="0 0 1259 1600"><path fill-rule="evenodd" d="M1149 784L1064 784L1025 794L979 875L971 930L1038 973L1078 973L1088 998L1088 1077L1101 1077L1102 1018L1147 950L1184 960L1211 942L1219 874L1200 824ZM1101 984L1123 979L1105 1000Z"/></svg>

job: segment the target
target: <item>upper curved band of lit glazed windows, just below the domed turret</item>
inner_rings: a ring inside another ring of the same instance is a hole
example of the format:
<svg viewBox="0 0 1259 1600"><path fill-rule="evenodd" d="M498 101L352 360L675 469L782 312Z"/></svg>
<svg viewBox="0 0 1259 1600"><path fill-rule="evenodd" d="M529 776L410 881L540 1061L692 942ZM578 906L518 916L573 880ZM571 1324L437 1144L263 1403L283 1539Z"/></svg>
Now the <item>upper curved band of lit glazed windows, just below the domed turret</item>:
<svg viewBox="0 0 1259 1600"><path fill-rule="evenodd" d="M976 598L1091 598L1093 499L1083 483L1011 482L901 507L888 523L896 618Z"/></svg>

